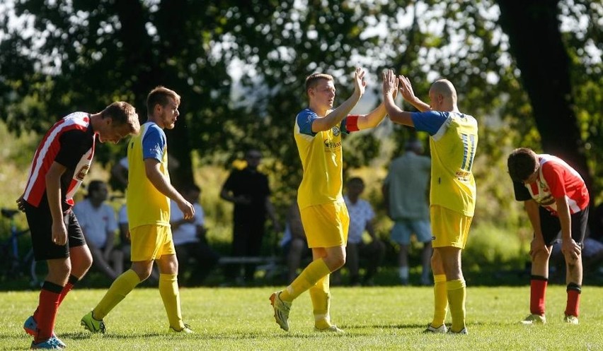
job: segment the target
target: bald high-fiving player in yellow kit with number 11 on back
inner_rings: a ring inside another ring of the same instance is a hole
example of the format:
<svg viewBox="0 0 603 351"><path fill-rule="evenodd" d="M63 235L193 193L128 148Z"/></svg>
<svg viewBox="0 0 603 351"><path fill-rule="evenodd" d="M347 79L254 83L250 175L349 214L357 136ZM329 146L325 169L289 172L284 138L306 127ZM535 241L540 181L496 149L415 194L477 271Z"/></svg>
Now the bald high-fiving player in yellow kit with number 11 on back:
<svg viewBox="0 0 603 351"><path fill-rule="evenodd" d="M394 103L400 89L404 100L420 112L406 112ZM430 219L433 232L431 267L435 308L427 333L466 334L466 285L461 269L464 249L476 203L476 184L471 173L478 142L477 121L459 112L454 85L440 79L431 85L431 105L418 99L408 78L394 71L383 75L384 104L394 123L427 131L431 148ZM447 305L452 326L444 325Z"/></svg>

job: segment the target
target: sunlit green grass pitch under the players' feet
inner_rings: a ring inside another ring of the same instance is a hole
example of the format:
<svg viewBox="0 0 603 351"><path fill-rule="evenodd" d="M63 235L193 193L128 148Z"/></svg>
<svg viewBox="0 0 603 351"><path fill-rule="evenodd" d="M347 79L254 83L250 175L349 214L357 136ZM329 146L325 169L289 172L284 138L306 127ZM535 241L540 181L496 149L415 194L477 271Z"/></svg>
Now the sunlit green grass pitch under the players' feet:
<svg viewBox="0 0 603 351"><path fill-rule="evenodd" d="M183 315L194 335L167 334L159 291L134 290L105 318L107 333L79 325L105 290L74 290L59 311L57 335L69 350L603 350L603 287L584 287L580 325L563 323L565 287L547 292L544 326L522 326L529 287L469 287L469 335L421 333L432 316L430 287L334 287L331 318L343 335L315 333L309 295L294 302L291 331L280 330L268 297L274 289L181 290ZM0 349L24 350L23 321L38 292L2 292ZM449 317L448 317L449 319Z"/></svg>

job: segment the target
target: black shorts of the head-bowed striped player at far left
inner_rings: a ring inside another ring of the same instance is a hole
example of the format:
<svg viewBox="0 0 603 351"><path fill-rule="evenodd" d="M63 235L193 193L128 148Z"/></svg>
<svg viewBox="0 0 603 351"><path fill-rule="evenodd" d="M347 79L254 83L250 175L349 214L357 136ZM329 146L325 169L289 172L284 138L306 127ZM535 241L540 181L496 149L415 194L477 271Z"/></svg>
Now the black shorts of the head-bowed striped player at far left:
<svg viewBox="0 0 603 351"><path fill-rule="evenodd" d="M69 257L69 248L86 245L84 233L72 210L63 213L63 222L67 227L67 244L57 245L52 242L52 215L47 203L40 203L40 207L31 206L26 201L25 216L31 232L31 243L35 261L46 261L54 258Z"/></svg>

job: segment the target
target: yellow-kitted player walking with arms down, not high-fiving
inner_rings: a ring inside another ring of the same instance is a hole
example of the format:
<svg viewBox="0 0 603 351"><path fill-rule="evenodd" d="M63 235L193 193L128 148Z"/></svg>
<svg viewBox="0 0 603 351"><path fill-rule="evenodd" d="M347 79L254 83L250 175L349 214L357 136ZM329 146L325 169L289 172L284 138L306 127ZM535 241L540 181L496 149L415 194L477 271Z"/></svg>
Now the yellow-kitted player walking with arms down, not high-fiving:
<svg viewBox="0 0 603 351"><path fill-rule="evenodd" d="M147 123L128 145L127 217L132 241L132 268L117 277L101 302L81 319L93 333L105 333L103 318L134 287L149 278L153 261L159 266L159 294L168 314L169 332L193 333L182 320L178 292L178 259L170 229L170 199L185 219L193 218L193 205L174 189L168 173L166 134L178 119L180 96L159 86L147 96Z"/></svg>

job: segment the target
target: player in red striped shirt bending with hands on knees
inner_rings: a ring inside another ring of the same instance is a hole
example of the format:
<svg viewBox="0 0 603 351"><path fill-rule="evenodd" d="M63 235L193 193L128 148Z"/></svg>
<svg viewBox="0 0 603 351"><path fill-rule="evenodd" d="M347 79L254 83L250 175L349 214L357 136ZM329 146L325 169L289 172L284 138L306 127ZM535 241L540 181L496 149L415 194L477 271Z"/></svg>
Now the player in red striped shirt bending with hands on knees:
<svg viewBox="0 0 603 351"><path fill-rule="evenodd" d="M561 252L565 257L568 299L563 321L578 324L582 292L582 247L590 201L580 174L561 158L536 154L529 148L513 150L507 159L515 199L524 201L534 239L530 280L530 314L522 323L546 323L544 297L549 282L551 249L561 232Z"/></svg>

